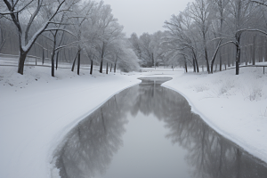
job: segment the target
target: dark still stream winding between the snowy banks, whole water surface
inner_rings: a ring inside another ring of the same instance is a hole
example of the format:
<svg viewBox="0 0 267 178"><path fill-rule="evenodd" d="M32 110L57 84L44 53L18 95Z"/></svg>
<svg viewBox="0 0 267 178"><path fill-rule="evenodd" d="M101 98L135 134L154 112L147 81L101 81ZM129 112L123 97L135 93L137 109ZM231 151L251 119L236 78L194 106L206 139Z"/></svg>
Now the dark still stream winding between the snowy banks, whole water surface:
<svg viewBox="0 0 267 178"><path fill-rule="evenodd" d="M55 151L62 178L266 178L267 166L216 134L180 95L142 79L75 126Z"/></svg>

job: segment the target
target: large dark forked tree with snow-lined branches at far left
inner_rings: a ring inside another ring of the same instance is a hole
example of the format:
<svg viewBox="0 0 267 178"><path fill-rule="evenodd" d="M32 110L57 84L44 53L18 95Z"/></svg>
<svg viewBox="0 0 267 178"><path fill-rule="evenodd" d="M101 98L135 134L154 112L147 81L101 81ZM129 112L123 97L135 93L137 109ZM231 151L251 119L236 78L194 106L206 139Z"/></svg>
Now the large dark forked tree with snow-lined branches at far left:
<svg viewBox="0 0 267 178"><path fill-rule="evenodd" d="M58 23L58 21L53 21L53 19L60 15L61 12L69 9L69 5L72 5L73 1L4 0L0 4L1 6L4 6L5 10L4 12L0 12L0 14L7 16L8 19L12 20L18 30L20 45L18 73L23 75L26 56L33 44L35 44L37 37L40 36L44 30L50 28L51 24ZM41 12L46 6L49 6L52 11L47 19L44 19ZM38 20L42 20L43 23L32 28L33 24L37 24ZM29 33L30 31L32 31L32 33Z"/></svg>

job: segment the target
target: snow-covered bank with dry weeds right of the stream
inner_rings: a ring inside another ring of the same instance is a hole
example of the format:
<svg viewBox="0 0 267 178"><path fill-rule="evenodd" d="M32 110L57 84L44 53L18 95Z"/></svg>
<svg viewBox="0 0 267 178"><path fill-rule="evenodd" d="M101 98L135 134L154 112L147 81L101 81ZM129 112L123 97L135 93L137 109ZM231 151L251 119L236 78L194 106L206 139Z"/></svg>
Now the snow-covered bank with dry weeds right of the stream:
<svg viewBox="0 0 267 178"><path fill-rule="evenodd" d="M218 134L267 163L267 75L259 69L187 73L163 84L190 103Z"/></svg>

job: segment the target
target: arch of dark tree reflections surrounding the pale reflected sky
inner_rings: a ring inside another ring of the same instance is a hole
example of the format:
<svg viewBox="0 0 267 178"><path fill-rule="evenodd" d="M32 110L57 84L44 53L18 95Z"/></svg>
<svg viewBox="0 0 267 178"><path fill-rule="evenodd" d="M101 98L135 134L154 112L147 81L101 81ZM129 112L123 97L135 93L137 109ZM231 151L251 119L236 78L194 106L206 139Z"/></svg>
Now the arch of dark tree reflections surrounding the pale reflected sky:
<svg viewBox="0 0 267 178"><path fill-rule="evenodd" d="M166 122L167 138L188 150L187 162L196 177L264 177L266 166L255 163L238 147L207 126L179 94L161 87L164 80L143 80L118 93L80 122L55 154L62 178L104 173L123 144L127 113L154 114Z"/></svg>

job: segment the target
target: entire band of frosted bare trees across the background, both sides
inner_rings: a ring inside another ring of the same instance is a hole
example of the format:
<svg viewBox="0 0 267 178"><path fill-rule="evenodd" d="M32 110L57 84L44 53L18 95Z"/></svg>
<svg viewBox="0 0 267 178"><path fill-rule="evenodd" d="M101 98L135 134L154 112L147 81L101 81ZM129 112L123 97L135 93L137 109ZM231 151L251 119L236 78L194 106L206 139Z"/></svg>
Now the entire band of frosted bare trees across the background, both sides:
<svg viewBox="0 0 267 178"><path fill-rule="evenodd" d="M266 61L265 0L195 0L163 24L165 31L126 38L111 6L93 0L0 2L0 53L16 54L23 74L29 55L50 63L103 65L129 72L142 67L222 71ZM48 62L49 61L49 62Z"/></svg>

